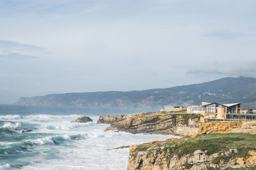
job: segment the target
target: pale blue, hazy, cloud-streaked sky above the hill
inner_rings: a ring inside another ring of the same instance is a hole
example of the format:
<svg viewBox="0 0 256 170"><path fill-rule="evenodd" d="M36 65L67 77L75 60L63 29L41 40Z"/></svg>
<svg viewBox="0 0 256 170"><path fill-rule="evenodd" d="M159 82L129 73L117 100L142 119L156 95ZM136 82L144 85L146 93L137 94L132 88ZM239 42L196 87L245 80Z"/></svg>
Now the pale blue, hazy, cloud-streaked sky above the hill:
<svg viewBox="0 0 256 170"><path fill-rule="evenodd" d="M255 0L0 0L0 104L256 78L255 6Z"/></svg>

